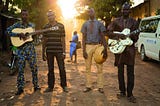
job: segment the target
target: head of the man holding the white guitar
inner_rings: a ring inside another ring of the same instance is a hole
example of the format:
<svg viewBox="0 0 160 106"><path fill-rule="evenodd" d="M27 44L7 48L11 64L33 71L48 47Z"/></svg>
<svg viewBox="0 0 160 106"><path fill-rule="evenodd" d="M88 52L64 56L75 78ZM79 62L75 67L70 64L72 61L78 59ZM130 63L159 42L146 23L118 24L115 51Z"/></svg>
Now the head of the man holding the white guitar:
<svg viewBox="0 0 160 106"><path fill-rule="evenodd" d="M122 5L122 14L123 14L123 17L127 18L129 17L129 13L130 13L130 4L128 2L125 2L123 5Z"/></svg>

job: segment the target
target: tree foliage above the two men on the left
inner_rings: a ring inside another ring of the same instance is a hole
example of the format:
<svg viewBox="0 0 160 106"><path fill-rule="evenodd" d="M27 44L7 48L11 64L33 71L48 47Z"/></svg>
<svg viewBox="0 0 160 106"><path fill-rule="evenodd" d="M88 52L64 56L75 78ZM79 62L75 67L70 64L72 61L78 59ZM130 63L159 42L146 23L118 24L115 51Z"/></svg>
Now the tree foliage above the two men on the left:
<svg viewBox="0 0 160 106"><path fill-rule="evenodd" d="M14 17L20 17L20 12L17 12L17 10L27 9L30 13L30 20L39 29L47 22L46 12L49 9L58 11L57 16L61 15L56 2L57 0L6 0L4 7L7 9L4 12Z"/></svg>

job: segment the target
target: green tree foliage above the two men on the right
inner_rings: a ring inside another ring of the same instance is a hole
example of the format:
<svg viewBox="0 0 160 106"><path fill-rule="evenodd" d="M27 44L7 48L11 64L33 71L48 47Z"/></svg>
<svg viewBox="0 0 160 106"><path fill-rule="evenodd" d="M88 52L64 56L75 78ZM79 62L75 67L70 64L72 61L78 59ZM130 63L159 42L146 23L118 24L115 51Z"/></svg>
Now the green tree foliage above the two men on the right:
<svg viewBox="0 0 160 106"><path fill-rule="evenodd" d="M126 1L132 3L132 0L79 0L77 3L81 3L82 8L86 5L94 8L96 17L104 20L107 24L113 17L120 16L121 6ZM86 12L81 13L77 18L86 19Z"/></svg>

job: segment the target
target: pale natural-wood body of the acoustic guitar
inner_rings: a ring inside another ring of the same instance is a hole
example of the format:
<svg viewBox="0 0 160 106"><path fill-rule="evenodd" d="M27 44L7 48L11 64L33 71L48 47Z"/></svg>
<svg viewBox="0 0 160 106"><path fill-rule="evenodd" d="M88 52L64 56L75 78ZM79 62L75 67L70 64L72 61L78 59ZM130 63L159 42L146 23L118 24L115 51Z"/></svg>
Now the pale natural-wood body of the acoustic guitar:
<svg viewBox="0 0 160 106"><path fill-rule="evenodd" d="M27 33L32 33L34 32L34 29L29 27L29 28L25 28L25 29L22 29L22 28L15 28L12 30L13 33L24 33L24 34L27 34ZM11 43L12 45L16 46L16 47L19 47L21 45L23 45L24 43L26 42L30 42L30 41L33 41L33 38L32 36L27 36L27 39L26 40L23 40L23 39L20 39L19 37L15 37L15 36L11 36Z"/></svg>

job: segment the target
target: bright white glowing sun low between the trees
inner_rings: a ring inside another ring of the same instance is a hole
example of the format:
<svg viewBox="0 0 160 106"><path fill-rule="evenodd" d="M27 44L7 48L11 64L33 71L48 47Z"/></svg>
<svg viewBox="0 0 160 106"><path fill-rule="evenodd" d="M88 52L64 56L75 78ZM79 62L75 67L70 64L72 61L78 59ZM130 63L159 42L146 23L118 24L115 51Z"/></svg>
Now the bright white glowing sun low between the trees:
<svg viewBox="0 0 160 106"><path fill-rule="evenodd" d="M62 15L65 19L74 18L77 11L74 4L77 0L58 0L57 4L60 6Z"/></svg>

